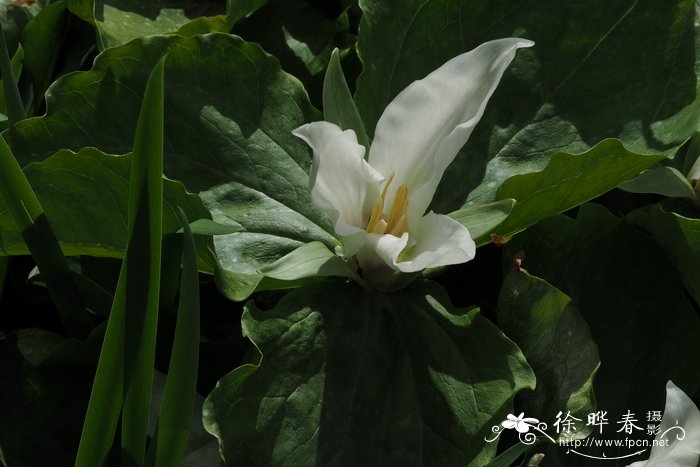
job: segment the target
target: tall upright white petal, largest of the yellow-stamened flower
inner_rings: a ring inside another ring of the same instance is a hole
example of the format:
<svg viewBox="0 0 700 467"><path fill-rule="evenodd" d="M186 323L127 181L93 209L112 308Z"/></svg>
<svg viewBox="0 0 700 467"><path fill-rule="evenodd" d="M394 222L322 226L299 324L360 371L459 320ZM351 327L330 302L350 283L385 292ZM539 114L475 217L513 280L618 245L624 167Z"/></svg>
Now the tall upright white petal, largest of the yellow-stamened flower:
<svg viewBox="0 0 700 467"><path fill-rule="evenodd" d="M445 168L481 119L516 50L532 45L517 38L486 42L396 96L377 123L369 154L372 167L387 176L395 173L386 206L405 184L409 222L425 213Z"/></svg>

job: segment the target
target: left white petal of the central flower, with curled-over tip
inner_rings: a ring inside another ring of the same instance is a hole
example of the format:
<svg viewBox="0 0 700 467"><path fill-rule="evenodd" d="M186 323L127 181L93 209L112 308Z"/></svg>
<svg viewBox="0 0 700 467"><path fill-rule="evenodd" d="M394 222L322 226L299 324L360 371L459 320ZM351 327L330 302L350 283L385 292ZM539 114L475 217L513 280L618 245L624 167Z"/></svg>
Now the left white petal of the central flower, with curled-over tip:
<svg viewBox="0 0 700 467"><path fill-rule="evenodd" d="M314 122L292 133L313 149L309 175L313 203L333 219L339 235L364 228L383 177L364 160L365 148L358 144L355 132Z"/></svg>

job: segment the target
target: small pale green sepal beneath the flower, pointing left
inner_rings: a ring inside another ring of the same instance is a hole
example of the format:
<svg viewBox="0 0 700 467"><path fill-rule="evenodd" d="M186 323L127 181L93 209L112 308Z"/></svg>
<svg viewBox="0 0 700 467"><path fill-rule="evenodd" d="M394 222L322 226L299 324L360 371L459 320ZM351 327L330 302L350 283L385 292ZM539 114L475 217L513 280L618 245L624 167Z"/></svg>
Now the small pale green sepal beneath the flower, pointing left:
<svg viewBox="0 0 700 467"><path fill-rule="evenodd" d="M347 277L362 282L350 265L321 242L303 245L269 266L260 268L265 277L296 281L313 277Z"/></svg>

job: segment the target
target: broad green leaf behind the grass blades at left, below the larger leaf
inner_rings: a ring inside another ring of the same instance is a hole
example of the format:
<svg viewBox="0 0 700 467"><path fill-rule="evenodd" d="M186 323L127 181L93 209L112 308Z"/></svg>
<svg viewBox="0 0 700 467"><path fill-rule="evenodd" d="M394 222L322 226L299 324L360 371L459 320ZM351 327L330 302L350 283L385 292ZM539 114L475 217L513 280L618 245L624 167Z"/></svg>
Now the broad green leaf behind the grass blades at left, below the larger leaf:
<svg viewBox="0 0 700 467"><path fill-rule="evenodd" d="M131 156L109 156L86 148L77 154L59 151L25 169L66 255L123 257L130 165ZM190 219L210 217L202 202L188 194L181 183L165 180L163 193L163 232L175 232L180 227L177 205L182 206ZM90 202L85 202L86 199ZM206 239L198 239L199 267L211 273L214 264L207 251L208 244ZM0 254L29 254L2 198Z"/></svg>

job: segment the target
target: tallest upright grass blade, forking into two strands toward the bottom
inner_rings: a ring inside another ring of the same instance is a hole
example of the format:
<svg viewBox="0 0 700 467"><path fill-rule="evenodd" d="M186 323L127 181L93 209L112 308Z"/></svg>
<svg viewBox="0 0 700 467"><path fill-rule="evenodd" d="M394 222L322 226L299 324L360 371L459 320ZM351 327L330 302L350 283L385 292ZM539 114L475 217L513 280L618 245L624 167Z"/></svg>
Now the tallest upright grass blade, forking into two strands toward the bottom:
<svg viewBox="0 0 700 467"><path fill-rule="evenodd" d="M153 382L163 190L163 68L151 72L134 140L127 247L76 467L104 465L122 410L122 465L143 465Z"/></svg>

